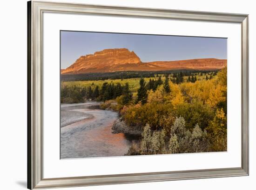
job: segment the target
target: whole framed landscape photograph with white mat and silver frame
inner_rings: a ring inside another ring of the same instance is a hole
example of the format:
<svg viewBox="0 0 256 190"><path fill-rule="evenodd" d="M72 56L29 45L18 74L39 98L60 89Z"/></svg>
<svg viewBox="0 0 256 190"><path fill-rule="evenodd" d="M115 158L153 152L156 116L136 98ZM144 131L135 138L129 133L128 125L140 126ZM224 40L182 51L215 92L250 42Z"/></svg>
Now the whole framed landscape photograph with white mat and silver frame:
<svg viewBox="0 0 256 190"><path fill-rule="evenodd" d="M27 10L28 189L249 175L248 15Z"/></svg>

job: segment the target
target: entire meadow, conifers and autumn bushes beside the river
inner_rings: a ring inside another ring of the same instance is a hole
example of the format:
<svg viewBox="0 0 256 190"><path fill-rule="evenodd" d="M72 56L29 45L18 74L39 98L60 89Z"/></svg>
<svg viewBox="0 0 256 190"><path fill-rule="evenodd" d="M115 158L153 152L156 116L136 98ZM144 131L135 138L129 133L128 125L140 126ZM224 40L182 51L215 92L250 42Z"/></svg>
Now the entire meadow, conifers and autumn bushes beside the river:
<svg viewBox="0 0 256 190"><path fill-rule="evenodd" d="M139 136L126 155L227 151L227 68L61 82L61 103L101 101L113 133Z"/></svg>

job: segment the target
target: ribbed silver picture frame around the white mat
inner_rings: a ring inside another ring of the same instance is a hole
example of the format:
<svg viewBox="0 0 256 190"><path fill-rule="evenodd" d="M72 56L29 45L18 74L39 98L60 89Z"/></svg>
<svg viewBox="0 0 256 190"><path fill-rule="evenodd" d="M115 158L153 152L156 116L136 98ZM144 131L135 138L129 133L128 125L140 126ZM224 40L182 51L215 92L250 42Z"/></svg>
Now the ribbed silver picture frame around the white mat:
<svg viewBox="0 0 256 190"><path fill-rule="evenodd" d="M248 15L229 13L192 12L167 9L98 6L71 3L29 1L27 4L28 36L28 189L74 187L106 184L128 184L209 177L249 175L249 54ZM238 168L192 171L167 171L102 176L43 178L42 162L42 23L43 13L101 14L159 19L185 19L215 22L233 22L242 26L242 163Z"/></svg>

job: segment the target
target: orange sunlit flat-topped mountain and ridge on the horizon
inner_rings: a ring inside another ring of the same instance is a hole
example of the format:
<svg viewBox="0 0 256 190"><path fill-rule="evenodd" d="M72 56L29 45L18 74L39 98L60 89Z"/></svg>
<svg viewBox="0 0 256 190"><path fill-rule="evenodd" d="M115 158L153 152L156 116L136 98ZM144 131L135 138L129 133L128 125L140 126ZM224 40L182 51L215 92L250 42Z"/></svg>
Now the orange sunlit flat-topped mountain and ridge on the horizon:
<svg viewBox="0 0 256 190"><path fill-rule="evenodd" d="M134 51L126 48L106 49L79 57L61 74L102 73L115 71L216 70L227 66L226 59L189 59L142 63Z"/></svg>

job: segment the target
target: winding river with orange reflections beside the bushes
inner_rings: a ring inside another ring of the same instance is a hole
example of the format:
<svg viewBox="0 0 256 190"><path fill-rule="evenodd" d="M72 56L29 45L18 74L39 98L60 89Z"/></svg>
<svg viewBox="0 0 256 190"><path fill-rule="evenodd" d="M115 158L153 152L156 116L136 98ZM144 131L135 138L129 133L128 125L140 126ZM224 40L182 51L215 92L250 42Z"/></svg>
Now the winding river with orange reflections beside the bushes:
<svg viewBox="0 0 256 190"><path fill-rule="evenodd" d="M123 156L131 141L113 134L113 111L89 108L97 102L61 105L61 158ZM65 121L65 122L64 122Z"/></svg>

